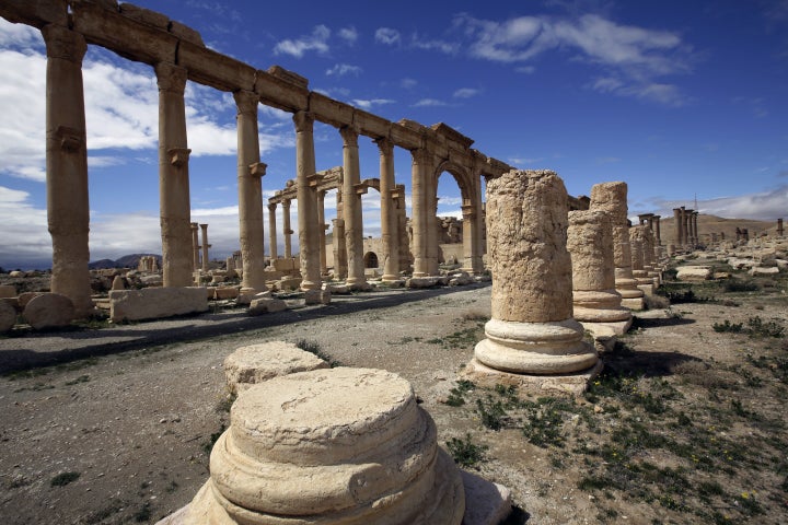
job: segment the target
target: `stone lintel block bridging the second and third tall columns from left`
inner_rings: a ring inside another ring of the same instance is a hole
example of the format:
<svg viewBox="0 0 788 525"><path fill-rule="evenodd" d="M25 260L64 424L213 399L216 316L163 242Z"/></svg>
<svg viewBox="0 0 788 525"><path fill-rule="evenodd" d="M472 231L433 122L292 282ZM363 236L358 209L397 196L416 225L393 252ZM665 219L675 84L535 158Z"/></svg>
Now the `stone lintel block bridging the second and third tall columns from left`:
<svg viewBox="0 0 788 525"><path fill-rule="evenodd" d="M255 89L255 68L192 42L181 43L178 65L186 68L189 80L219 91Z"/></svg>

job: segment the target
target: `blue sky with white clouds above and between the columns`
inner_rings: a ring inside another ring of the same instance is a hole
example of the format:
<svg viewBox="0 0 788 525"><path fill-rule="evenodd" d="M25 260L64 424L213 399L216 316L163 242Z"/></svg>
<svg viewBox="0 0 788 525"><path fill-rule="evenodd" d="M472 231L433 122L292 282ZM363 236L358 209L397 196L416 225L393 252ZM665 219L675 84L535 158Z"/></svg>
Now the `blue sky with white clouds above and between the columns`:
<svg viewBox="0 0 788 525"><path fill-rule="evenodd" d="M788 215L787 0L134 3L258 69L282 66L339 101L391 120L443 121L489 156L554 170L571 195L625 180L630 215L670 214L695 198L728 218ZM0 19L7 269L51 260L44 57L36 30ZM83 74L91 259L161 253L152 69L91 46ZM223 257L239 249L234 103L189 83L187 113L193 220L209 224L211 255ZM289 114L265 106L259 125L267 202L296 176L294 132ZM335 129L316 125L315 141L318 170L341 163ZM371 140L360 139L360 155L361 177L376 177ZM409 191L408 152L396 151L395 172ZM438 194L439 214L457 214L451 175ZM367 235L379 233L378 200L374 190L364 198Z"/></svg>

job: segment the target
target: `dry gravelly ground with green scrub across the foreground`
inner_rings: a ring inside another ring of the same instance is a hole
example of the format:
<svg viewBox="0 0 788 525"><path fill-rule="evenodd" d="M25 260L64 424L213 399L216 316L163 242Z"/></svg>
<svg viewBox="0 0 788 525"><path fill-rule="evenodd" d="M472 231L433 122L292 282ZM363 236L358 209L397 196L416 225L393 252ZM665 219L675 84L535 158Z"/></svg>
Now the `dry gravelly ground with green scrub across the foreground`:
<svg viewBox="0 0 788 525"><path fill-rule="evenodd" d="M155 523L187 504L208 478L211 440L229 422L222 362L239 347L268 340L305 340L337 364L410 381L439 443L473 445L480 456L468 468L511 489L508 523L787 523L788 390L778 374L788 363L785 338L712 327L753 316L788 326L785 280L780 285L641 314L603 355L610 375L549 420L538 407L554 401L538 397L551 393L513 399L456 388L457 372L484 337L485 284L335 296L328 306L260 317L217 308L152 323L18 330L0 338L0 523ZM752 364L761 355L763 366ZM649 393L642 399L661 405L652 410L634 397L635 386L622 385L639 386ZM452 395L464 405L448 405ZM485 412L496 399L503 401L501 424L493 430ZM560 438L529 439L529 424L538 430L540 421ZM699 440L692 457L671 450L686 445L682 425L702 435L687 434ZM644 427L672 441L616 441L616 430ZM722 442L744 447L730 466L714 457L715 429ZM626 464L603 447L609 443ZM748 452L751 462L741 457Z"/></svg>

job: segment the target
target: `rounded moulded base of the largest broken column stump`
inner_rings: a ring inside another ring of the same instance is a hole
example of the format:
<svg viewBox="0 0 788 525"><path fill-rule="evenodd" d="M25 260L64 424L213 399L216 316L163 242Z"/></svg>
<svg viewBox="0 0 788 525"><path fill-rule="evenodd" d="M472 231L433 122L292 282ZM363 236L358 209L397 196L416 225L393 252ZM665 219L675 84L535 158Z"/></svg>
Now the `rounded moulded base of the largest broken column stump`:
<svg viewBox="0 0 788 525"><path fill-rule="evenodd" d="M515 323L490 319L486 339L475 358L491 369L515 374L568 374L591 369L599 358L583 341L583 328L569 318L561 322Z"/></svg>

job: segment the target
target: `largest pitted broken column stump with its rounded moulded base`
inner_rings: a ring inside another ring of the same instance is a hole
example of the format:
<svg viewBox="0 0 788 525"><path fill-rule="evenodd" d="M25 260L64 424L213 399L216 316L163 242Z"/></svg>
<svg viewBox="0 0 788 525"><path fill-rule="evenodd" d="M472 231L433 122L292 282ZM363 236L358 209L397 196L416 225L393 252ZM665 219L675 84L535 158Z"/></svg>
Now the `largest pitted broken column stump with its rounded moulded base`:
<svg viewBox="0 0 788 525"><path fill-rule="evenodd" d="M568 196L549 171L505 173L487 184L487 241L493 270L487 337L474 350L479 375L556 375L587 371L596 352L572 318L567 252Z"/></svg>

